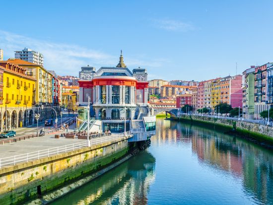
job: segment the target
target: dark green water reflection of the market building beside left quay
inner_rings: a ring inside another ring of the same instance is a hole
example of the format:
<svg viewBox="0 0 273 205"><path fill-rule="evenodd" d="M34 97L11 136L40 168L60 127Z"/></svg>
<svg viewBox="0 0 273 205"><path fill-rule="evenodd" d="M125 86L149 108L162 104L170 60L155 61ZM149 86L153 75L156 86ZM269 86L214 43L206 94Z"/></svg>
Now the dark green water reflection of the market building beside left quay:
<svg viewBox="0 0 273 205"><path fill-rule="evenodd" d="M52 205L145 205L154 167L155 158L143 151Z"/></svg>

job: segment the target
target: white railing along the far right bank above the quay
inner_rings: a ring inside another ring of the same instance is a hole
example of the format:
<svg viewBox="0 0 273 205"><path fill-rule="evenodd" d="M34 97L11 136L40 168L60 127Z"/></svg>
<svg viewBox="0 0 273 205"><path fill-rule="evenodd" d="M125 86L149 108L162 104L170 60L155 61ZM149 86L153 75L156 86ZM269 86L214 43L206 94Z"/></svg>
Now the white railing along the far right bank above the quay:
<svg viewBox="0 0 273 205"><path fill-rule="evenodd" d="M178 116L181 115L189 115L187 113L179 113ZM193 114L193 116L204 116L209 118L220 118L220 119L227 119L227 120L234 120L234 121L243 121L243 122L249 122L249 123L255 123L260 125L267 125L273 127L273 122L268 122L266 120L253 120L253 119L246 119L246 118L233 118L233 117L226 117L226 116L215 116L215 115L204 115L204 114Z"/></svg>

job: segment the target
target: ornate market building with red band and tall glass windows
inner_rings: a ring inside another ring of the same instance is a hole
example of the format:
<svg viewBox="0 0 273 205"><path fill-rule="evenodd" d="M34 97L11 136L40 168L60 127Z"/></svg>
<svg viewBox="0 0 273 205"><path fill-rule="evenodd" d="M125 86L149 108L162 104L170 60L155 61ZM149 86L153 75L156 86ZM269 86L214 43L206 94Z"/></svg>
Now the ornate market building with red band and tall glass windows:
<svg viewBox="0 0 273 205"><path fill-rule="evenodd" d="M86 120L90 99L90 116L98 119L101 131L121 133L136 128L155 130L155 117L148 108L147 71L127 68L121 53L116 67L82 67L79 73L78 113ZM126 122L126 123L125 123ZM93 126L94 127L94 126ZM91 128L92 130L92 128Z"/></svg>

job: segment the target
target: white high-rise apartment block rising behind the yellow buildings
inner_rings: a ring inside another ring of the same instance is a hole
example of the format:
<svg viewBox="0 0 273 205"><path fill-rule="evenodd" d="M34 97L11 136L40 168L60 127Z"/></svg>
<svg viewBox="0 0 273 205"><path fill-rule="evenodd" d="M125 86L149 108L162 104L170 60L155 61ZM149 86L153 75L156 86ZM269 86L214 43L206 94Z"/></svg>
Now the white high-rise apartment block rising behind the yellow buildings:
<svg viewBox="0 0 273 205"><path fill-rule="evenodd" d="M22 51L14 51L15 52L15 59L21 59L24 61L28 61L33 64L37 65L44 65L44 56L43 54L32 51L31 49L24 48Z"/></svg>

